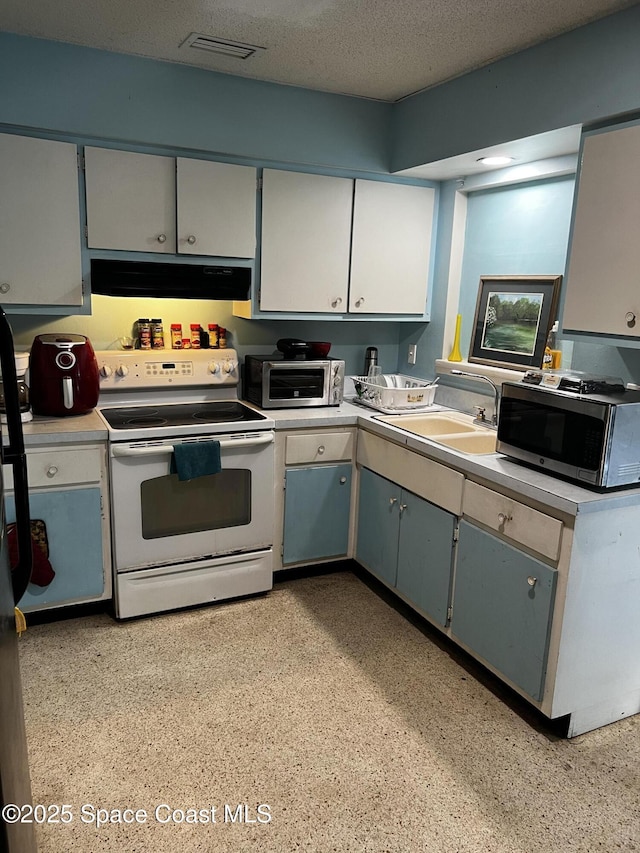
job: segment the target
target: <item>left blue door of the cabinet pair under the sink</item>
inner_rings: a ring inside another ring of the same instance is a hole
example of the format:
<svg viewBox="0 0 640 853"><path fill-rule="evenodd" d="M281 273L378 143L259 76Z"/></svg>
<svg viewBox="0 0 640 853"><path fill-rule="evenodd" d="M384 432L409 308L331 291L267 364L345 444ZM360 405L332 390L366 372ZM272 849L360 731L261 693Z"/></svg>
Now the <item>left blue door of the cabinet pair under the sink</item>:
<svg viewBox="0 0 640 853"><path fill-rule="evenodd" d="M362 468L356 559L391 586L398 566L401 493L400 486Z"/></svg>

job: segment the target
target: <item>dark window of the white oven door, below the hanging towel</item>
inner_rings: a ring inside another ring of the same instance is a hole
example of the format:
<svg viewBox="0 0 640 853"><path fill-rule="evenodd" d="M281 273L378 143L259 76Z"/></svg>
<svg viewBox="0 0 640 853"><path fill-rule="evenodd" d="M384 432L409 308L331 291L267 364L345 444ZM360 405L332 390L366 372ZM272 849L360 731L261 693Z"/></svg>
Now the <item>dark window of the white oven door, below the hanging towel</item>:
<svg viewBox="0 0 640 853"><path fill-rule="evenodd" d="M193 480L154 477L140 484L140 502L143 539L250 524L251 471L228 468Z"/></svg>

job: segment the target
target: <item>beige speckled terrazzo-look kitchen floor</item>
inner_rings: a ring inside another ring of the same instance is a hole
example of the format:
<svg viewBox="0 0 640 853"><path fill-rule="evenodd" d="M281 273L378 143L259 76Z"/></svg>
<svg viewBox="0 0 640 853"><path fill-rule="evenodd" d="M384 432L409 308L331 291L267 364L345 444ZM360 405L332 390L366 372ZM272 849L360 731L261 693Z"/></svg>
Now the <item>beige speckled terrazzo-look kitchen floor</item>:
<svg viewBox="0 0 640 853"><path fill-rule="evenodd" d="M349 572L21 652L42 853L640 849L640 717L558 739Z"/></svg>

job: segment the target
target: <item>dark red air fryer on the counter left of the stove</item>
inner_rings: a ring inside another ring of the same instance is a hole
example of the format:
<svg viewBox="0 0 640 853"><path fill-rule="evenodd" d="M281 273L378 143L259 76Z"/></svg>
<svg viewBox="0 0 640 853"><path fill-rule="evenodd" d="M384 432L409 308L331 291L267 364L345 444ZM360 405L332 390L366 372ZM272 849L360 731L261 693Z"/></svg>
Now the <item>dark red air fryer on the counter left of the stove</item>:
<svg viewBox="0 0 640 853"><path fill-rule="evenodd" d="M82 415L100 393L98 362L84 335L36 335L29 359L31 408L36 415Z"/></svg>

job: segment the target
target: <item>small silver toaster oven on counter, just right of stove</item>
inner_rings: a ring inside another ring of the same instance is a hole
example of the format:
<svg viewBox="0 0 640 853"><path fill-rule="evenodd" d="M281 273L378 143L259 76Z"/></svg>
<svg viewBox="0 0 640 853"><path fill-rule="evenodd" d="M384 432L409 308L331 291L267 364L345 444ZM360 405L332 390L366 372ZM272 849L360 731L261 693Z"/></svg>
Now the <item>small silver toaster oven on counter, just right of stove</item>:
<svg viewBox="0 0 640 853"><path fill-rule="evenodd" d="M339 406L344 394L344 361L247 355L242 396L263 409Z"/></svg>

